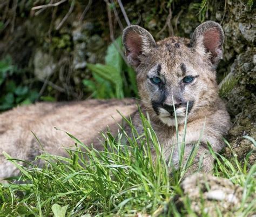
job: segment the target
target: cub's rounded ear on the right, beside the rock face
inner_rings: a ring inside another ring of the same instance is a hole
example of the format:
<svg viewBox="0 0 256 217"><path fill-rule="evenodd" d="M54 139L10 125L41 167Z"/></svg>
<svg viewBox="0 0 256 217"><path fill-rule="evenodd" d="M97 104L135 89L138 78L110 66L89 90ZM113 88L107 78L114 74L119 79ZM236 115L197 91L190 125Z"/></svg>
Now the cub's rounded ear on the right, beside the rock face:
<svg viewBox="0 0 256 217"><path fill-rule="evenodd" d="M224 32L220 24L207 21L199 25L191 38L191 45L203 54L208 54L214 68L223 58Z"/></svg>

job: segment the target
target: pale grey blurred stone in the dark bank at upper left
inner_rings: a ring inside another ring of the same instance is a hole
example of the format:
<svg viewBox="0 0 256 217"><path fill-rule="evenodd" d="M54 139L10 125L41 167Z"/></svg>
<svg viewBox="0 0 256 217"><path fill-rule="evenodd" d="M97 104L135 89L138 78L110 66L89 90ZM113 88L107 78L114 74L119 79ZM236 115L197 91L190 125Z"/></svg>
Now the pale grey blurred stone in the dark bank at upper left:
<svg viewBox="0 0 256 217"><path fill-rule="evenodd" d="M45 79L53 74L57 67L57 64L53 62L53 57L39 49L36 50L33 64L35 67L35 76L40 79Z"/></svg>

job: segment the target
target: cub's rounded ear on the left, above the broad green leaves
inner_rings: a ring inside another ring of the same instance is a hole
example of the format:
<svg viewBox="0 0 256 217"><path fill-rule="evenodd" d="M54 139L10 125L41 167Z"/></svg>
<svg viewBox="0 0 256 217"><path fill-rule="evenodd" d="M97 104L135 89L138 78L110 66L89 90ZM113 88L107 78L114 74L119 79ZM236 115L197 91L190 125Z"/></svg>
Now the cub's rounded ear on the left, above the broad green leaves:
<svg viewBox="0 0 256 217"><path fill-rule="evenodd" d="M123 44L129 64L137 67L140 55L145 55L156 46L153 36L138 25L131 25L123 31Z"/></svg>

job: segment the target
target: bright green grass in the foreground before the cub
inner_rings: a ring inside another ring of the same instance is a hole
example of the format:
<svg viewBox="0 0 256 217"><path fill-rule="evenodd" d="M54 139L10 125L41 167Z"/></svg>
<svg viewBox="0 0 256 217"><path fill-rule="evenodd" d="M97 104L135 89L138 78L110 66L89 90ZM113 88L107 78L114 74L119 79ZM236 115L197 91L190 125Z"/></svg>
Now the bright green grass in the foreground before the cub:
<svg viewBox="0 0 256 217"><path fill-rule="evenodd" d="M197 148L191 158L185 163L181 160L179 169L170 175L172 165L168 165L163 157L156 134L142 114L141 119L142 135L127 119L132 137L124 131L117 137L110 132L104 133L103 151L89 148L67 133L76 144L66 150L69 157L44 153L37 158L45 160L43 168L29 162L26 167L21 166L18 160L6 154L22 175L15 178L19 184L0 185L0 216L133 216L137 213L195 216L188 199L182 209L177 209L170 201L175 195L182 194L180 182ZM155 160L150 144L156 152ZM182 158L183 142L180 147ZM228 178L244 188L242 205L237 207L237 212L241 216L255 212L255 201L247 200L255 195L256 166L249 165L247 159L239 162L234 153L229 159L214 152L212 155L216 160L214 175ZM162 212L166 207L169 207L169 214Z"/></svg>

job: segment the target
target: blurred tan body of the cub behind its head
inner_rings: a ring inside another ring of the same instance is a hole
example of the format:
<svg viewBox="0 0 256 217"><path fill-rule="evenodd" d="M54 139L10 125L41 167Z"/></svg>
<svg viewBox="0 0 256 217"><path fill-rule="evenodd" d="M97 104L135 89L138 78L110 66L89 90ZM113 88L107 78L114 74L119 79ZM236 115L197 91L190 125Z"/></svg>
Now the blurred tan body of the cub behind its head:
<svg viewBox="0 0 256 217"><path fill-rule="evenodd" d="M0 179L17 175L14 165L5 160L3 151L16 159L32 161L44 151L66 155L63 147L73 146L69 132L87 145L100 150L100 132L109 126L117 132L122 117L136 111L133 99L86 100L72 103L37 103L0 114ZM59 130L57 130L57 129Z"/></svg>

